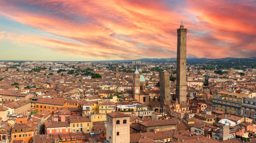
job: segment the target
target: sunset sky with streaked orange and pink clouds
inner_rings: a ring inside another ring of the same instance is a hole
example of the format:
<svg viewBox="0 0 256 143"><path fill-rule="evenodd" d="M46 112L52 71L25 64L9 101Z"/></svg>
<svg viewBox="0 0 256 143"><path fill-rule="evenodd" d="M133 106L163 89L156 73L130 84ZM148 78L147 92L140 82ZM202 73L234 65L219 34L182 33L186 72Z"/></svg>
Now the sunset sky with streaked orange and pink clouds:
<svg viewBox="0 0 256 143"><path fill-rule="evenodd" d="M255 0L1 0L0 60L256 55Z"/></svg>

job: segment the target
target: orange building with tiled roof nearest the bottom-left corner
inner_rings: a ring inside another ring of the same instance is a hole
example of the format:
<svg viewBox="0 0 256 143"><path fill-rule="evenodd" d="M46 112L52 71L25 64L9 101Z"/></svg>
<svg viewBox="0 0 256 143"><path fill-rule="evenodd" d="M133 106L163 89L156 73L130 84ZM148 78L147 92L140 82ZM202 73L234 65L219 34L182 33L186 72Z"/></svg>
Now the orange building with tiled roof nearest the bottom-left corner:
<svg viewBox="0 0 256 143"><path fill-rule="evenodd" d="M31 124L14 124L11 130L11 142L15 140L23 140L25 143L32 142L35 129Z"/></svg>

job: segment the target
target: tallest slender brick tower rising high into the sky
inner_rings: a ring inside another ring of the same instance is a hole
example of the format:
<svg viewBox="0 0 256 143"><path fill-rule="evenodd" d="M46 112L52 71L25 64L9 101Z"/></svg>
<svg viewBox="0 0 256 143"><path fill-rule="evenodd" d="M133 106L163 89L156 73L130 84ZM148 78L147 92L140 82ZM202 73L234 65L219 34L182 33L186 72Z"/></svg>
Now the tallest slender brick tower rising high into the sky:
<svg viewBox="0 0 256 143"><path fill-rule="evenodd" d="M180 28L177 29L177 83L176 97L179 103L184 104L186 100L186 65L187 65L187 28L181 22Z"/></svg>

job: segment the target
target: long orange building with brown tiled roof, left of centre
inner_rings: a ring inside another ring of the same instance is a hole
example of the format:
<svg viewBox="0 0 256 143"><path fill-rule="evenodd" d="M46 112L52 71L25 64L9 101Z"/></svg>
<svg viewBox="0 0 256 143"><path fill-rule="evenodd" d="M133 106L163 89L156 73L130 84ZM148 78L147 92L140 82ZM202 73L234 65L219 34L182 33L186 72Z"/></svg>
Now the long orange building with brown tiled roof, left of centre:
<svg viewBox="0 0 256 143"><path fill-rule="evenodd" d="M53 112L58 108L64 107L65 98L63 97L54 97L54 98L42 98L35 102L35 110L39 112L42 110L47 110L49 112Z"/></svg>

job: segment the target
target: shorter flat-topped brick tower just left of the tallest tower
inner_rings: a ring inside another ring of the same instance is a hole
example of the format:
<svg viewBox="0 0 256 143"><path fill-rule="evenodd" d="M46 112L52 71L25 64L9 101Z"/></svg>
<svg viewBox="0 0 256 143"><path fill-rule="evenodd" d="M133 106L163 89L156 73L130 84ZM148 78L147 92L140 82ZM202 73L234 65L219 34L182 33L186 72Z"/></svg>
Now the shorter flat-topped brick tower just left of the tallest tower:
<svg viewBox="0 0 256 143"><path fill-rule="evenodd" d="M160 107L162 112L164 111L163 110L164 104L171 103L170 74L168 72L161 71L159 75L160 75Z"/></svg>

